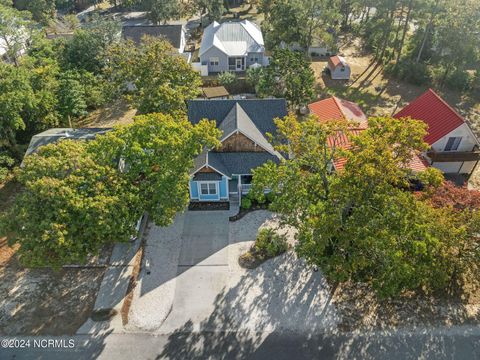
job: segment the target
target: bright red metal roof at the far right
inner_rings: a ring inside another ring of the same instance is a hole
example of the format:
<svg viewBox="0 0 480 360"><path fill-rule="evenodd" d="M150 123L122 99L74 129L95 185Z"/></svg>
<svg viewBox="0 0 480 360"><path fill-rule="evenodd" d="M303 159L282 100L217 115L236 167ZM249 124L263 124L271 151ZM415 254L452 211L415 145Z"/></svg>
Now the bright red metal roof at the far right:
<svg viewBox="0 0 480 360"><path fill-rule="evenodd" d="M432 89L428 89L413 100L394 117L397 119L411 118L426 123L428 125L428 134L424 140L429 145L434 144L445 135L465 124L463 117Z"/></svg>

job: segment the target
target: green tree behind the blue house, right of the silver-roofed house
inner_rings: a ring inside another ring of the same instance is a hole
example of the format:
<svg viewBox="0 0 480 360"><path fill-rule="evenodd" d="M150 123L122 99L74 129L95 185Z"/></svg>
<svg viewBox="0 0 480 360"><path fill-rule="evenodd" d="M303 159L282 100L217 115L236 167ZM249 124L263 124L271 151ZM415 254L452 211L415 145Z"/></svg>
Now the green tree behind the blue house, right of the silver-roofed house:
<svg viewBox="0 0 480 360"><path fill-rule="evenodd" d="M315 98L315 75L302 53L277 49L261 74L258 94L285 98L292 108Z"/></svg>

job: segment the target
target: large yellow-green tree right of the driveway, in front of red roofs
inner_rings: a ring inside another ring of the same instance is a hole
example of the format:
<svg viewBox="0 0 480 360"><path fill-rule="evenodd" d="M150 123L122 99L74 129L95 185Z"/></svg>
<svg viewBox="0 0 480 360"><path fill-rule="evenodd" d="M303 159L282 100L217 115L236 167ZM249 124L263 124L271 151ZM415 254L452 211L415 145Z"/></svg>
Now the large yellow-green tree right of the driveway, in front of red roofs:
<svg viewBox="0 0 480 360"><path fill-rule="evenodd" d="M426 147L424 124L371 118L354 136L345 125L315 118L276 123L277 148L292 156L254 170L252 191L272 189L272 209L298 229L296 251L330 280L370 282L380 296L395 296L444 288L474 268L478 249L470 245L461 261L455 244L477 238L478 216L434 208L407 190L414 176L408 164ZM342 136L351 138L350 149L336 145ZM345 159L343 171L329 171L335 158ZM422 178L438 184L439 171L427 172Z"/></svg>

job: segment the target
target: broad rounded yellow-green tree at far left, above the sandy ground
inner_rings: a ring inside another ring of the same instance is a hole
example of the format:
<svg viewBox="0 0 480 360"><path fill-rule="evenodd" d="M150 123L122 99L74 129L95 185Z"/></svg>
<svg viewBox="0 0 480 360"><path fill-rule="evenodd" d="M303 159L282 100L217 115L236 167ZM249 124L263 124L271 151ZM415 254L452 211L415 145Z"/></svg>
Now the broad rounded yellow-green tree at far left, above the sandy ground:
<svg viewBox="0 0 480 360"><path fill-rule="evenodd" d="M142 209L114 163L100 164L85 142L64 140L24 160L23 185L5 231L29 266L84 263L105 244L127 241Z"/></svg>

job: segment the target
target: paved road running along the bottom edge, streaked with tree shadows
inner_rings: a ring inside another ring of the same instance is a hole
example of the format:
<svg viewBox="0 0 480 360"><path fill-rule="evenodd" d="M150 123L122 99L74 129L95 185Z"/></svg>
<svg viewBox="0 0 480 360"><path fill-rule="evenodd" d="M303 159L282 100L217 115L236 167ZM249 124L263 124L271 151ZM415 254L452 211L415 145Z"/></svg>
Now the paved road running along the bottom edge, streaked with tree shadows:
<svg viewBox="0 0 480 360"><path fill-rule="evenodd" d="M294 333L177 333L76 336L72 350L0 350L0 359L480 359L480 331L299 335Z"/></svg>

